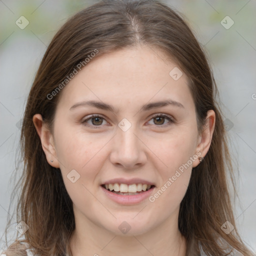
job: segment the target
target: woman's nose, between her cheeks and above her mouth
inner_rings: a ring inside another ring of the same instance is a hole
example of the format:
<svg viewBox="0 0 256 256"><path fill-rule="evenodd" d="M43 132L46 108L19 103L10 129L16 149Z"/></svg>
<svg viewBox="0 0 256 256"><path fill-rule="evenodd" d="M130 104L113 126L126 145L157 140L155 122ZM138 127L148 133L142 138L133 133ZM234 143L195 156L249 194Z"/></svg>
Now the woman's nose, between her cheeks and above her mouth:
<svg viewBox="0 0 256 256"><path fill-rule="evenodd" d="M142 141L133 126L126 131L117 127L110 153L112 164L126 169L141 167L147 160L146 146Z"/></svg>

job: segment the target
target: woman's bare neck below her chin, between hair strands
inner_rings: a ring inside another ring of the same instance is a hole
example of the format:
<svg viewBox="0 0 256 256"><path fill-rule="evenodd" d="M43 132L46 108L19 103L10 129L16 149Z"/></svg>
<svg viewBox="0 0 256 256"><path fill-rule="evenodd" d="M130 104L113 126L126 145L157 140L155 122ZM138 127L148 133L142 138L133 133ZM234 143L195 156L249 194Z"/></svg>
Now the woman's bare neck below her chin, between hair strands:
<svg viewBox="0 0 256 256"><path fill-rule="evenodd" d="M118 235L84 219L70 239L73 256L185 256L186 240L176 221L168 219L148 232ZM176 223L176 224L173 224ZM86 230L86 231L84 231Z"/></svg>

